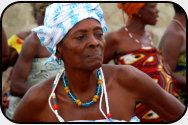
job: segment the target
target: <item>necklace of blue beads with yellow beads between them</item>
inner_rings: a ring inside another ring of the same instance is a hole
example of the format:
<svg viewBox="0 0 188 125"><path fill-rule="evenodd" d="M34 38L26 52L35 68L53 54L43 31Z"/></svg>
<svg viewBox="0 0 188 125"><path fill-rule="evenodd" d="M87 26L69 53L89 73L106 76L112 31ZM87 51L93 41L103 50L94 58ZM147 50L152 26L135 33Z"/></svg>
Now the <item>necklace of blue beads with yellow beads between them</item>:
<svg viewBox="0 0 188 125"><path fill-rule="evenodd" d="M97 90L95 92L95 95L93 96L92 100L89 102L82 102L80 101L80 99L77 99L73 93L70 91L70 88L68 86L68 82L67 82L67 78L64 75L63 76L63 86L64 86L64 90L66 93L68 93L68 95L70 96L70 98L78 105L78 106L90 106L91 104L94 104L95 102L97 102L97 100L99 99L99 95L100 95L100 91L101 91L101 84L102 84L102 77L101 77L101 73L99 71L99 69L97 69Z"/></svg>

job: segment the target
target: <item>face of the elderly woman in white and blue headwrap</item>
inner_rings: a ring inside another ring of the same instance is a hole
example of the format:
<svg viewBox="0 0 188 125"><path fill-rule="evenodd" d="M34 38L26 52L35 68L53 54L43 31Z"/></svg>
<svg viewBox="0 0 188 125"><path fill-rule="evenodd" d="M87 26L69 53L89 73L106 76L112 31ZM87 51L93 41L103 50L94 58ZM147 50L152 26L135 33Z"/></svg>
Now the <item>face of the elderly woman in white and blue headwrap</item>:
<svg viewBox="0 0 188 125"><path fill-rule="evenodd" d="M95 19L85 19L68 32L57 52L65 68L96 69L103 62L104 43L100 23Z"/></svg>

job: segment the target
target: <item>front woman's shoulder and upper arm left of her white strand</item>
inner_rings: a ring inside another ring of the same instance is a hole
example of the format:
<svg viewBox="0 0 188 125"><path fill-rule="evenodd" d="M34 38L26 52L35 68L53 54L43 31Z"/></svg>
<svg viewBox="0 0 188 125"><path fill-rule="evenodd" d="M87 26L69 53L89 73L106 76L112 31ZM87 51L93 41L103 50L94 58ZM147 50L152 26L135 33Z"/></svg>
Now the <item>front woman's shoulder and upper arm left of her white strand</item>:
<svg viewBox="0 0 188 125"><path fill-rule="evenodd" d="M55 77L32 86L18 104L12 120L15 122L41 122L45 119L45 115L42 113L48 106L48 98L54 79ZM45 110L45 114L47 112Z"/></svg>

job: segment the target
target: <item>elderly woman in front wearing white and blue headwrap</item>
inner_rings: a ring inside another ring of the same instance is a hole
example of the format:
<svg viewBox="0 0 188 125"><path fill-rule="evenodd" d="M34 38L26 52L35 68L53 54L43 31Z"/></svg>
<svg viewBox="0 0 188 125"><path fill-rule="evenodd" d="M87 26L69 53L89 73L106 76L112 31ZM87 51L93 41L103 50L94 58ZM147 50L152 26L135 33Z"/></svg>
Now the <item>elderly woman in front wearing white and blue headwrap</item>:
<svg viewBox="0 0 188 125"><path fill-rule="evenodd" d="M99 4L55 3L45 16L44 26L34 31L53 53L49 63L63 60L65 70L27 92L13 116L15 122L138 121L138 101L167 121L182 116L185 107L143 72L102 65L106 26Z"/></svg>

